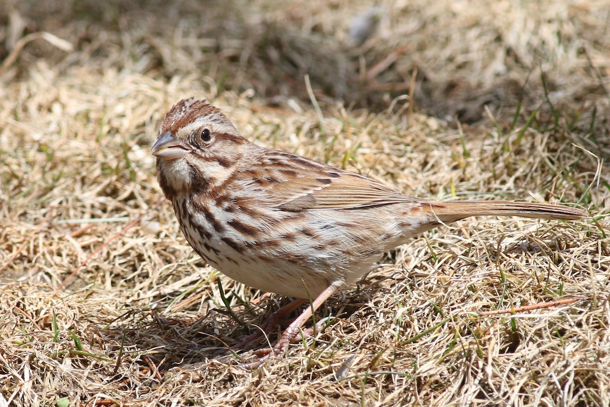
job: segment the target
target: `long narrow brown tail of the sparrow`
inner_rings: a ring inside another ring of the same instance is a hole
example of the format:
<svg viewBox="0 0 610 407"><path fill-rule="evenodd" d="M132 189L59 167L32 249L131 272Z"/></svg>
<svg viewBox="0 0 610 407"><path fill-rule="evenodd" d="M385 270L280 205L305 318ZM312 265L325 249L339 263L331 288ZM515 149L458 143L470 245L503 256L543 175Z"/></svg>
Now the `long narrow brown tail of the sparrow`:
<svg viewBox="0 0 610 407"><path fill-rule="evenodd" d="M426 208L426 206L428 206ZM522 216L523 218L564 219L584 218L578 208L551 203L509 202L505 200L426 202L423 207L442 222L454 222L469 216Z"/></svg>

